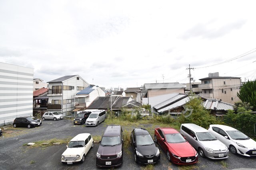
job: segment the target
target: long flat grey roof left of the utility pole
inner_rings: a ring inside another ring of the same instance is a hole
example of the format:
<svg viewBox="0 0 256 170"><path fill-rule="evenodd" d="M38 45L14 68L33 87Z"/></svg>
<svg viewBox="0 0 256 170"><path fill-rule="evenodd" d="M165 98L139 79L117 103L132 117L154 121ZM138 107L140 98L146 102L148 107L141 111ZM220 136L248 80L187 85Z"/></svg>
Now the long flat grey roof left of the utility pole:
<svg viewBox="0 0 256 170"><path fill-rule="evenodd" d="M162 88L185 88L180 83L146 83L145 89L162 89Z"/></svg>

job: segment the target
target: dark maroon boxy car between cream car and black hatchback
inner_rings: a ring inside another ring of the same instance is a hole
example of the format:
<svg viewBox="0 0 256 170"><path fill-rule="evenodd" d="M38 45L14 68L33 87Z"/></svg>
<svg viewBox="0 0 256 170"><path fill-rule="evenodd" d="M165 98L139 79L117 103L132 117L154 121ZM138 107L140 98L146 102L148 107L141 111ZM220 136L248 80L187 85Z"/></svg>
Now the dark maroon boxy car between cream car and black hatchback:
<svg viewBox="0 0 256 170"><path fill-rule="evenodd" d="M96 166L120 166L123 163L123 131L120 125L109 125L104 131L96 154Z"/></svg>

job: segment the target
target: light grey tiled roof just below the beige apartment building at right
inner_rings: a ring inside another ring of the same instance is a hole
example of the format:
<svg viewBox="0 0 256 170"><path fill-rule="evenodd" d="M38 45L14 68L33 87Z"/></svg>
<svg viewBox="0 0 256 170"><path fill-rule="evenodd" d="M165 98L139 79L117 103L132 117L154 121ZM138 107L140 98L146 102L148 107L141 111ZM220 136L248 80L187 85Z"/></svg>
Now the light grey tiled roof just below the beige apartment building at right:
<svg viewBox="0 0 256 170"><path fill-rule="evenodd" d="M212 109L212 110L234 110L234 105L222 102L220 100L215 99L208 99L204 101L203 106L206 109Z"/></svg>

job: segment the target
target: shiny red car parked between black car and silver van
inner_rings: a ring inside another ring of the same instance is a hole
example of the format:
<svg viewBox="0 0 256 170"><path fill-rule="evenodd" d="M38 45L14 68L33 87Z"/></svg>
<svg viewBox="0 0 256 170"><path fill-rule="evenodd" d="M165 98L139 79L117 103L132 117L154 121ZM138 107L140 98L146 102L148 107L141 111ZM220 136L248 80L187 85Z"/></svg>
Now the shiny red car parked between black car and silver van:
<svg viewBox="0 0 256 170"><path fill-rule="evenodd" d="M158 127L155 129L154 140L174 164L187 165L198 162L198 153L176 129Z"/></svg>

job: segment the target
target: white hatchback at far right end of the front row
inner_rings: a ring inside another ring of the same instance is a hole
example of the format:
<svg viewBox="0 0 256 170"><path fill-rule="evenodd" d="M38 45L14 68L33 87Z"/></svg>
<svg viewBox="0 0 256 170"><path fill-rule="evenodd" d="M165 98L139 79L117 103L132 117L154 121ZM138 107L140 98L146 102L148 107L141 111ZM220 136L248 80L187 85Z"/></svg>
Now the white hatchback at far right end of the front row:
<svg viewBox="0 0 256 170"><path fill-rule="evenodd" d="M256 156L256 142L237 129L226 125L210 125L208 130L233 154Z"/></svg>

